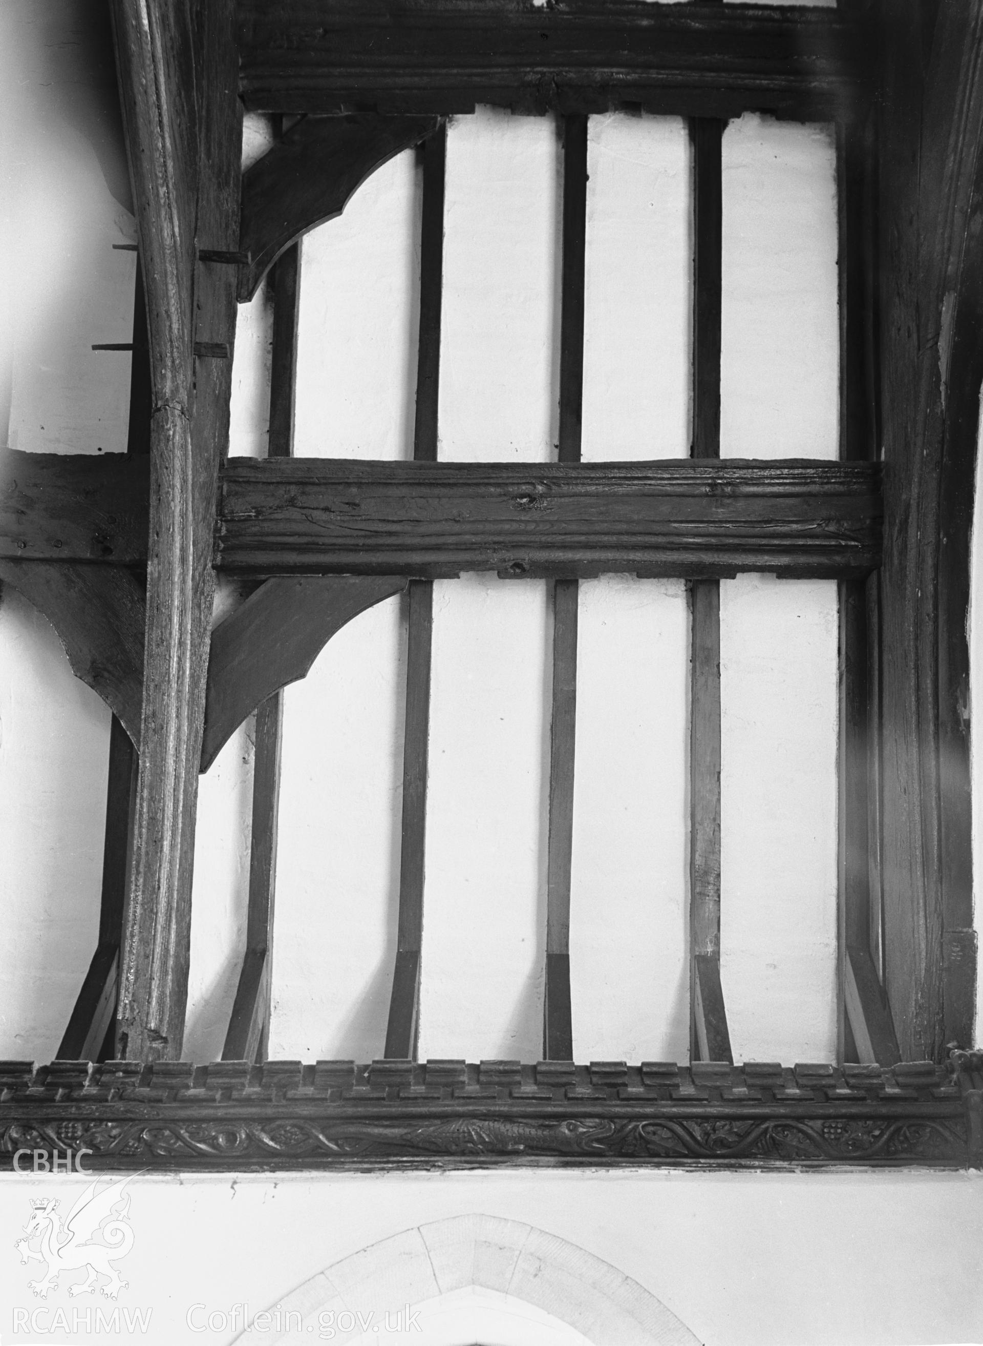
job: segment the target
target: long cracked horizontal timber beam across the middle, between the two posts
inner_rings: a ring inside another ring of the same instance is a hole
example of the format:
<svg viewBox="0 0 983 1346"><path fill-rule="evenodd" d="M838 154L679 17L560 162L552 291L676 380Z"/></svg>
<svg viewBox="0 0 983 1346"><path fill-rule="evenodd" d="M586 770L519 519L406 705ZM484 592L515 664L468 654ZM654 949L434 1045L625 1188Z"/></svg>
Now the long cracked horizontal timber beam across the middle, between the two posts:
<svg viewBox="0 0 983 1346"><path fill-rule="evenodd" d="M870 463L231 459L217 564L424 577L836 576L866 573L879 551Z"/></svg>

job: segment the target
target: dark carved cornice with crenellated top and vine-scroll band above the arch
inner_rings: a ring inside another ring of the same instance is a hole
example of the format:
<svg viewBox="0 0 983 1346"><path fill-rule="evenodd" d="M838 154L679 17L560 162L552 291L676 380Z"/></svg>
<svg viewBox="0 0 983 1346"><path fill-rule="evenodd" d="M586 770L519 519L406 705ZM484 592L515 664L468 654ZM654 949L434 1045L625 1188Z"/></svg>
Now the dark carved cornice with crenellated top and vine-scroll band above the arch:
<svg viewBox="0 0 983 1346"><path fill-rule="evenodd" d="M0 1062L0 1166L91 1170L983 1167L983 1057L705 1062Z"/></svg>

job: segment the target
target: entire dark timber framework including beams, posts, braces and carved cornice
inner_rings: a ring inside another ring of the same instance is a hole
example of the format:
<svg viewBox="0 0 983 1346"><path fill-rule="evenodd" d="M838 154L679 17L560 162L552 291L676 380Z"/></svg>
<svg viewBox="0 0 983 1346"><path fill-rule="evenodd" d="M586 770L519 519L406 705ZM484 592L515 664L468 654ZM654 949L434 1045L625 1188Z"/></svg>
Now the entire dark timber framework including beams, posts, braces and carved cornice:
<svg viewBox="0 0 983 1346"><path fill-rule="evenodd" d="M847 8L710 0L112 0L112 11L140 237L125 343L130 452L116 463L7 454L0 499L0 579L51 618L74 670L116 716L102 921L65 1059L0 1065L0 1155L71 1136L104 1167L983 1164L983 1065L964 1050L976 960L966 616L983 380L983 16L929 0L863 20ZM247 108L301 114L242 183L237 67ZM437 462L444 124L477 102L562 118L555 464ZM588 114L611 108L690 118L687 462L580 462ZM838 463L796 460L793 444L768 464L719 460L721 136L745 110L836 122ZM414 145L416 460L292 460L297 240ZM223 357L237 299L268 273L270 459L229 462ZM339 506L346 528L332 530ZM553 586L537 1066L413 1061L432 581L464 568ZM577 590L612 569L691 588L689 1067L572 1061ZM719 579L741 569L840 587L838 1067L732 1065L719 979ZM210 637L217 571L238 580L243 602ZM386 1059L268 1062L281 688L346 621L403 591L403 848ZM223 1061L194 1067L178 1058L196 781L253 712L247 950Z"/></svg>

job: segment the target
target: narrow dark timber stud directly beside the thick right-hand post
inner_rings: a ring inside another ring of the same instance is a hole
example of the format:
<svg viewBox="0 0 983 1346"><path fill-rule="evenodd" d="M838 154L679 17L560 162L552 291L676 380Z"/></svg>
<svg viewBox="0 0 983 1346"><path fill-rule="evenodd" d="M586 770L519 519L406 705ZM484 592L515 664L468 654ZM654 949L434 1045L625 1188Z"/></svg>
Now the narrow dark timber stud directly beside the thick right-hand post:
<svg viewBox="0 0 983 1346"><path fill-rule="evenodd" d="M862 121L840 125L839 201L839 456L875 455L873 315L867 237L873 230L867 180L870 144ZM877 575L839 583L839 1018L838 1058L893 1066L900 1061L890 1007L871 937L879 938L881 875L877 845ZM874 797L871 800L871 795ZM871 911L871 907L875 909Z"/></svg>

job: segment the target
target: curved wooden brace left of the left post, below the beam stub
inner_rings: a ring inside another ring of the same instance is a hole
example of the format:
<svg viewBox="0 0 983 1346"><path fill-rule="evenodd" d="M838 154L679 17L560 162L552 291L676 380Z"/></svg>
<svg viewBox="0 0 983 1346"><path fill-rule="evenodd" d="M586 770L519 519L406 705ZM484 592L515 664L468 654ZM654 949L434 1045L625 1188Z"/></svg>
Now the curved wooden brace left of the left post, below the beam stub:
<svg viewBox="0 0 983 1346"><path fill-rule="evenodd" d="M147 599L121 565L0 560L0 580L51 622L75 677L97 692L140 748Z"/></svg>

